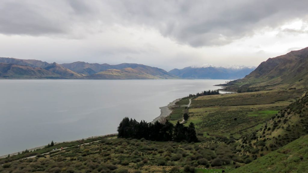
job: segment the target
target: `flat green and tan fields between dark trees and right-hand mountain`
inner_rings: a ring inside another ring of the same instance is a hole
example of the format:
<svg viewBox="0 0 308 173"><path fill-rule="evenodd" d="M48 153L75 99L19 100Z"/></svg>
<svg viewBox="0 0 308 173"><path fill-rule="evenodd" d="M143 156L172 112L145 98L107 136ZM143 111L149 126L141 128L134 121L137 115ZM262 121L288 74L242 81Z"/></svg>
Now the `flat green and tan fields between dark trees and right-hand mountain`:
<svg viewBox="0 0 308 173"><path fill-rule="evenodd" d="M213 138L239 139L265 126L272 116L302 96L305 90L272 90L238 94L207 95L193 99L187 124L193 122L199 133ZM173 107L169 119L182 120L188 99ZM253 122L253 123L252 123Z"/></svg>

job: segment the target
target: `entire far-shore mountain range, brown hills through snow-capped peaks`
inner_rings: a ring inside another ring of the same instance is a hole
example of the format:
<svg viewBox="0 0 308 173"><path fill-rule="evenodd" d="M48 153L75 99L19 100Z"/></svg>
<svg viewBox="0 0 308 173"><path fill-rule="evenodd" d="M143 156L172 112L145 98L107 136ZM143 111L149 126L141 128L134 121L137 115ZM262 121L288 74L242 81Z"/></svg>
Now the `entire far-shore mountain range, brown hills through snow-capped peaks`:
<svg viewBox="0 0 308 173"><path fill-rule="evenodd" d="M64 79L235 79L249 74L254 67L229 68L202 66L173 69L169 72L134 63L118 65L87 62L57 64L34 59L0 58L0 78Z"/></svg>

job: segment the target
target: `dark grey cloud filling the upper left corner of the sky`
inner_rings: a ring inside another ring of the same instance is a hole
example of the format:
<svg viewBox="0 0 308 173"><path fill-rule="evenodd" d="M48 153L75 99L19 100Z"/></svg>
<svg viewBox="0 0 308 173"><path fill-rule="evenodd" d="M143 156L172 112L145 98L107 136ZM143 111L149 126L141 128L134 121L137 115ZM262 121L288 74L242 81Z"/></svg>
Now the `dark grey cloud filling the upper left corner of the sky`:
<svg viewBox="0 0 308 173"><path fill-rule="evenodd" d="M65 32L56 18L35 3L23 1L0 2L0 32L2 34L40 35Z"/></svg>

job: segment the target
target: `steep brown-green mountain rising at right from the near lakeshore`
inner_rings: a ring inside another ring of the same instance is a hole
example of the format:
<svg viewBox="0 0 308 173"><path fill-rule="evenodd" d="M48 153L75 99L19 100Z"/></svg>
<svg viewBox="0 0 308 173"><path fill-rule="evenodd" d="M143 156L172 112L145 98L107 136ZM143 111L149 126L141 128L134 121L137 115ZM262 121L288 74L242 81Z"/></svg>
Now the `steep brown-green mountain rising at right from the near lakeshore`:
<svg viewBox="0 0 308 173"><path fill-rule="evenodd" d="M245 78L229 82L227 90L240 92L276 88L306 87L308 83L308 47L262 62Z"/></svg>

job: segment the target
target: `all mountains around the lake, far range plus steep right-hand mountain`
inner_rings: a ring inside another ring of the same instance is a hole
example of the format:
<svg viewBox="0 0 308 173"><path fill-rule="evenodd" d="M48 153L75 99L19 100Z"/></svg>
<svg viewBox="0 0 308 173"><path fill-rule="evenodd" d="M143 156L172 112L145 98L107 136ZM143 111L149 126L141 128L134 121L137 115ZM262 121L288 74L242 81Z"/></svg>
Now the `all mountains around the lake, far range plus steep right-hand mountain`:
<svg viewBox="0 0 308 173"><path fill-rule="evenodd" d="M188 66L169 72L142 64L118 65L73 62L47 63L39 60L0 58L0 78L67 79L237 79L226 90L246 92L265 89L296 88L308 82L308 47L269 58L257 68L246 66L216 67L211 64Z"/></svg>

